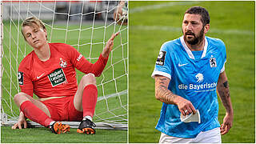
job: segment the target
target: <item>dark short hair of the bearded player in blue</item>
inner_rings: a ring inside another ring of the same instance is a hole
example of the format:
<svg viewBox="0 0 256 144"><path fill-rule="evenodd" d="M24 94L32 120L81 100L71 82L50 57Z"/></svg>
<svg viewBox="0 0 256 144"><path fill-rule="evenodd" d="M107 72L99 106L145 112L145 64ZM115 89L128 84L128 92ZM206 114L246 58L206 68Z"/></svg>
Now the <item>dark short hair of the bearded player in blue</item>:
<svg viewBox="0 0 256 144"><path fill-rule="evenodd" d="M201 15L202 25L206 26L206 24L210 23L210 15L208 11L201 6L193 6L186 10L185 14L199 14Z"/></svg>

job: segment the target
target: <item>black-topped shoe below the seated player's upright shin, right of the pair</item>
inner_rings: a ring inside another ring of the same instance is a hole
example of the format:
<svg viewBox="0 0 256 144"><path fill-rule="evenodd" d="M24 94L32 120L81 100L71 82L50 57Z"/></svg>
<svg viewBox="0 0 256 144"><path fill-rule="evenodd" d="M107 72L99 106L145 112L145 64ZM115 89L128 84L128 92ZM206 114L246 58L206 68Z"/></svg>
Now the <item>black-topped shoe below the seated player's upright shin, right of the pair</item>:
<svg viewBox="0 0 256 144"><path fill-rule="evenodd" d="M94 124L94 122L91 122L90 119L86 118L86 120L81 121L80 125L78 126L77 132L81 134L95 134L95 126L96 125Z"/></svg>

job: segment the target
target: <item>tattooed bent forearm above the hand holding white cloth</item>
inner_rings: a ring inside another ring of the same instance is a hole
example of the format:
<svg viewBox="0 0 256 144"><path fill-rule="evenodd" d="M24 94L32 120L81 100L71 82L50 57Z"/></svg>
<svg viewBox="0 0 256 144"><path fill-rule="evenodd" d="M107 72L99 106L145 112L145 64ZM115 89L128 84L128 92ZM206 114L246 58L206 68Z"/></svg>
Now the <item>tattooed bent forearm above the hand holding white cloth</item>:
<svg viewBox="0 0 256 144"><path fill-rule="evenodd" d="M167 89L170 80L167 78L155 78L155 97L167 104L174 104L174 98L177 97L176 94L173 94L170 90Z"/></svg>

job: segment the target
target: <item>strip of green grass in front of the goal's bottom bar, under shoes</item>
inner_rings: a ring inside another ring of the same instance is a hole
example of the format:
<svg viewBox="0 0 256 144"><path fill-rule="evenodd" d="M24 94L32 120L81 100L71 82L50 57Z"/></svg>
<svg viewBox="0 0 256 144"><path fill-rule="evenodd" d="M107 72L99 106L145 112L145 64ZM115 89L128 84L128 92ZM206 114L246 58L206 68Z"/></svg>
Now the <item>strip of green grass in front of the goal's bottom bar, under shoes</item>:
<svg viewBox="0 0 256 144"><path fill-rule="evenodd" d="M11 130L1 127L2 143L126 143L126 130L96 130L96 134L78 134L70 129L69 134L52 134L49 129L36 128Z"/></svg>

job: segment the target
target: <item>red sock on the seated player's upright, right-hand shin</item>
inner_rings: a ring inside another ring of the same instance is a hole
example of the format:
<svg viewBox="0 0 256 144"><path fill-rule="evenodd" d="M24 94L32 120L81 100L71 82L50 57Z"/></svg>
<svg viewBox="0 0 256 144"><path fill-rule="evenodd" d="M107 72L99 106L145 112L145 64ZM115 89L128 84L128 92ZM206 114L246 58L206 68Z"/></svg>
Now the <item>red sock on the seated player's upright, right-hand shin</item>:
<svg viewBox="0 0 256 144"><path fill-rule="evenodd" d="M82 93L83 117L90 115L90 117L93 118L97 98L98 98L97 87L93 84L87 85Z"/></svg>

